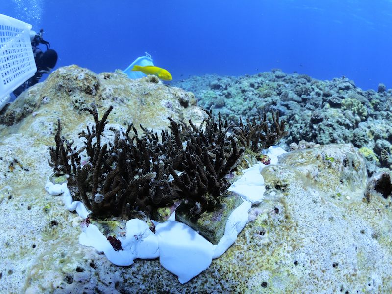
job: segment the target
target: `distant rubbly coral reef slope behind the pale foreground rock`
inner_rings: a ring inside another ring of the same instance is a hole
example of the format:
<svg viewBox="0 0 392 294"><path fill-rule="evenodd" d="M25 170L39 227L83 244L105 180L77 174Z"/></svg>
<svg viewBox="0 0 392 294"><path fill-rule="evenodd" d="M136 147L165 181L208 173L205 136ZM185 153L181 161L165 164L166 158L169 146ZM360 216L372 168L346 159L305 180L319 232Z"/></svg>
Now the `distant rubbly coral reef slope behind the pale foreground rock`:
<svg viewBox="0 0 392 294"><path fill-rule="evenodd" d="M205 75L172 82L192 91L198 104L222 117L258 118L278 111L287 122L281 146L301 140L317 144L352 143L371 150L369 175L392 167L392 89L380 84L364 91L342 77L330 81L279 69L240 77Z"/></svg>

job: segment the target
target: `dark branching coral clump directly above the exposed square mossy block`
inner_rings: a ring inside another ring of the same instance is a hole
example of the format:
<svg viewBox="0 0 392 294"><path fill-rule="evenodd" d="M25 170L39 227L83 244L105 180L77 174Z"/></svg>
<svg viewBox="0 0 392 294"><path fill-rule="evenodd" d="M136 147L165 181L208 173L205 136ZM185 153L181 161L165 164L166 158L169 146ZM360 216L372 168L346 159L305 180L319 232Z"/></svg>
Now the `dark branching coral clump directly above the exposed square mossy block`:
<svg viewBox="0 0 392 294"><path fill-rule="evenodd" d="M204 130L203 123L196 128L189 120L193 132L187 135L185 159L179 167L182 173L177 175L169 167L176 188L181 191L192 215L212 210L219 204L219 196L228 188L225 176L237 166L245 151L237 147L233 136L227 136L227 121L223 122L219 115L216 122L211 112L206 113Z"/></svg>

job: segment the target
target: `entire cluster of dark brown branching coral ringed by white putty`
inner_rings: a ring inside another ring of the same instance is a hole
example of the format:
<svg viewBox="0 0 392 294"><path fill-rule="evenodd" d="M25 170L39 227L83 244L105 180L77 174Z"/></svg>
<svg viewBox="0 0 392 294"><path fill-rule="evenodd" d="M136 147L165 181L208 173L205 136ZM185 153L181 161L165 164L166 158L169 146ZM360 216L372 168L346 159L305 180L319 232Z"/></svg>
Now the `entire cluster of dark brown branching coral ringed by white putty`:
<svg viewBox="0 0 392 294"><path fill-rule="evenodd" d="M266 115L260 122L248 120L247 125L236 126L206 111L200 127L191 120L186 125L168 118L171 131L162 131L159 138L143 126L144 134L139 136L130 124L126 130L110 128L114 140L102 144L112 110L113 106L99 120L94 104L84 109L95 126L79 133L79 138L85 138L81 148L60 135L58 120L56 147L50 148L49 165L55 175L68 175L73 200L81 200L98 218L131 219L135 211L150 217L154 209L175 201L186 205L191 216L212 211L229 187L227 175L240 163L245 148L259 152L286 134L278 114L272 114L271 126Z"/></svg>

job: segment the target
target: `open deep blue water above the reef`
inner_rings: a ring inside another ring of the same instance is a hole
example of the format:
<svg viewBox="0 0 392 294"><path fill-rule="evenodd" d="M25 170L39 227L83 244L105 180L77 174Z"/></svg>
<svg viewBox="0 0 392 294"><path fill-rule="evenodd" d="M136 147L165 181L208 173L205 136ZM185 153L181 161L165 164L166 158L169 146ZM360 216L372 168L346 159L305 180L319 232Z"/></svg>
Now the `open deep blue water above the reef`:
<svg viewBox="0 0 392 294"><path fill-rule="evenodd" d="M280 68L392 87L391 0L2 0L43 28L56 68L125 69L148 52L174 80Z"/></svg>

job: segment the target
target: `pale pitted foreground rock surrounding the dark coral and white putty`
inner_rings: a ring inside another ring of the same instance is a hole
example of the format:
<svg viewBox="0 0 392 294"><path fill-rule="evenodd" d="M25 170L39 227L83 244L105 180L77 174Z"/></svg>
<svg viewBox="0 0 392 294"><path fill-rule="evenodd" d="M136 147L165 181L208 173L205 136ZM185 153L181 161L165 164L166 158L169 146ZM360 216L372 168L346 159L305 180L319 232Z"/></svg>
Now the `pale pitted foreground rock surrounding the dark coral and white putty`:
<svg viewBox="0 0 392 294"><path fill-rule="evenodd" d="M369 190L365 159L351 144L299 149L265 168L265 199L235 244L186 284L158 260L118 267L80 245L82 219L44 185L57 118L77 138L91 125L81 109L92 102L100 114L114 106L108 127L131 121L159 130L168 116L203 117L192 93L155 77L132 81L77 66L56 70L4 109L0 293L392 292L392 197Z"/></svg>

